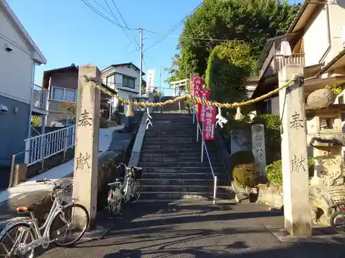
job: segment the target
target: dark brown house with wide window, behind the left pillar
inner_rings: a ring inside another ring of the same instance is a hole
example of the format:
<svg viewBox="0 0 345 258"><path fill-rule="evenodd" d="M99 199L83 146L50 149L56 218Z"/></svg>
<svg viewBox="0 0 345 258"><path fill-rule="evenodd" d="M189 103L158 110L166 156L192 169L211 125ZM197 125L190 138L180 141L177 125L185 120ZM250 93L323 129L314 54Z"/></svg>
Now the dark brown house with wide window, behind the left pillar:
<svg viewBox="0 0 345 258"><path fill-rule="evenodd" d="M42 87L49 91L47 102L48 116L46 126L66 126L75 124L79 67L72 64L67 67L43 72ZM110 92L117 92L103 84ZM101 92L101 110L109 117L110 96Z"/></svg>

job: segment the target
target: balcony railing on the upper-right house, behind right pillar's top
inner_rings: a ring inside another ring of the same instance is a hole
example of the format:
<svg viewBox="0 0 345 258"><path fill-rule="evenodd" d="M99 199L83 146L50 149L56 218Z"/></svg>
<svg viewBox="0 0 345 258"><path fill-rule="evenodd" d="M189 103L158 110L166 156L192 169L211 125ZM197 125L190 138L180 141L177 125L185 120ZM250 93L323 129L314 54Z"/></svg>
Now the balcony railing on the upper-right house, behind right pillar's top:
<svg viewBox="0 0 345 258"><path fill-rule="evenodd" d="M261 76L277 74L285 65L295 64L304 67L304 54L292 54L291 56L273 56L268 54L261 69Z"/></svg>

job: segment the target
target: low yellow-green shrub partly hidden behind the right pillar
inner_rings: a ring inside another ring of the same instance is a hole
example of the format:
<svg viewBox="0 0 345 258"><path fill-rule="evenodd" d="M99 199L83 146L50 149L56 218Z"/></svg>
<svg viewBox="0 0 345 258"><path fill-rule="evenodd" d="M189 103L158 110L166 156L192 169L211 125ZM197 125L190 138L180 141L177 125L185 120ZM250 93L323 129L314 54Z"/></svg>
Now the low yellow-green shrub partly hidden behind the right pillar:
<svg viewBox="0 0 345 258"><path fill-rule="evenodd" d="M315 160L314 158L308 159L308 175L311 176L311 171L314 174L314 165ZM283 185L283 171L282 171L282 160L276 160L272 162L268 166L266 166L266 175L267 179L270 184L274 186L282 186Z"/></svg>

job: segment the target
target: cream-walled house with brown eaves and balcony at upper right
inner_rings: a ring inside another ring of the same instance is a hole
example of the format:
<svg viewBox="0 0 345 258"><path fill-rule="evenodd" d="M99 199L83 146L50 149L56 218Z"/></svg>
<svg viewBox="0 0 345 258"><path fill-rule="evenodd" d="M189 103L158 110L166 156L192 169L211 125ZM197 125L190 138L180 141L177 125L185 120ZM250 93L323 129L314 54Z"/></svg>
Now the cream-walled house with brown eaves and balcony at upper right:
<svg viewBox="0 0 345 258"><path fill-rule="evenodd" d="M304 1L288 32L269 39L259 57L260 79L252 98L278 87L278 72L288 63L303 65L305 94L326 85L344 85L345 1ZM290 44L292 54L282 55L282 42ZM344 98L341 98L344 101ZM257 114L279 114L277 96L256 104Z"/></svg>

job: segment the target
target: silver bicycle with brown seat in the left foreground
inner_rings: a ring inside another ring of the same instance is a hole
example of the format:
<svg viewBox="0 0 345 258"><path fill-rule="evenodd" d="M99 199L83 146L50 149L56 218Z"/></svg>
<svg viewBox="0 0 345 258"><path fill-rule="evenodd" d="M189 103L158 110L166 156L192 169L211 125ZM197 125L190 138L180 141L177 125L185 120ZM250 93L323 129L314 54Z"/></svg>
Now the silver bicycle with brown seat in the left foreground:
<svg viewBox="0 0 345 258"><path fill-rule="evenodd" d="M36 182L50 183L52 184L52 207L48 213L46 221L41 227L34 217L32 207L20 206L17 207L17 213L19 217L14 217L3 222L0 226L0 246L5 250L5 257L34 257L34 249L41 246L43 249L48 248L51 243L57 246L72 246L75 244L83 234L86 232L86 228L89 225L88 211L84 206L75 204L73 200L66 200L68 198L68 186L63 186L59 182L53 182L52 180L37 180ZM79 208L77 211L77 218L74 218L75 208ZM86 215L85 219L81 218L82 213ZM76 226L72 223L77 222ZM81 226L81 222L86 222L85 226ZM75 239L70 240L70 236L63 235L61 242L59 237L61 236L61 228L56 229L56 226L63 224L67 226L67 230L81 229L81 233ZM17 229L17 230L15 230ZM41 231L43 230L43 234ZM56 233L55 235L52 235ZM14 239L12 239L14 233ZM6 238L7 237L7 238ZM30 237L30 239L28 239ZM30 241L28 241L30 240ZM68 241L66 241L68 240ZM13 244L8 248L8 244ZM3 253L0 250L0 257Z"/></svg>

